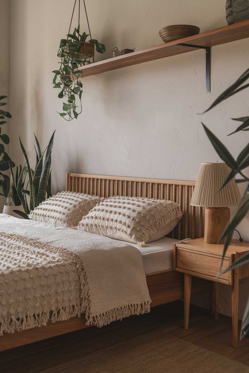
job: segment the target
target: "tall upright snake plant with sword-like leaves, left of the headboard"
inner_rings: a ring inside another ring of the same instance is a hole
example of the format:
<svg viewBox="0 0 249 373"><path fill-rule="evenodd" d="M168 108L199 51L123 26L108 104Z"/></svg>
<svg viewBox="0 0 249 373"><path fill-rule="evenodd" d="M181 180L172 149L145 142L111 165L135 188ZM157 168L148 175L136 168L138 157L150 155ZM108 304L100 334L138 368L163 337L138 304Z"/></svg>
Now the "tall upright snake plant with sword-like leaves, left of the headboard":
<svg viewBox="0 0 249 373"><path fill-rule="evenodd" d="M30 167L29 159L26 153L24 146L22 145L21 138L20 145L22 148L22 152L24 154L26 165L27 165L27 175L28 175L28 186L29 191L27 191L27 187L23 192L20 192L22 189L20 186L17 188L18 196L22 202L22 206L25 212L14 210L14 212L25 219L28 219L28 214L31 210L34 210L41 202L43 202L46 198L51 197L51 153L53 148L53 140L54 140L55 131L49 141L44 152L41 152L40 144L35 136L35 142L37 148L35 147L36 152L36 165L35 169L32 170ZM45 154L46 153L46 154ZM20 181L21 182L21 181ZM27 195L29 198L27 198ZM29 200L29 203L28 203Z"/></svg>

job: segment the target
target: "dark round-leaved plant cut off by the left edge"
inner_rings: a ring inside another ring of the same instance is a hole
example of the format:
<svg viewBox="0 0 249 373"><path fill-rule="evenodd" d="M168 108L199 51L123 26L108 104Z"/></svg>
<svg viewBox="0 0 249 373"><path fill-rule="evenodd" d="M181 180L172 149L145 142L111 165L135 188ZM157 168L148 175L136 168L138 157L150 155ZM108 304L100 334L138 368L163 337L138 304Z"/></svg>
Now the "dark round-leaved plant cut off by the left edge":
<svg viewBox="0 0 249 373"><path fill-rule="evenodd" d="M0 101L4 98L7 98L7 96L0 96ZM0 102L0 106L7 105L6 102ZM6 112L5 110L0 109L0 119L6 119L11 118L11 115L9 112ZM8 175L5 175L3 172L9 170L10 165L12 167L15 167L15 163L12 162L9 155L6 153L4 144L9 144L9 136L6 134L1 133L1 126L4 125L6 120L0 120L0 140L3 142L3 144L0 143L0 189L2 193L0 195L3 195L7 198L7 195L9 193L10 189L10 178Z"/></svg>

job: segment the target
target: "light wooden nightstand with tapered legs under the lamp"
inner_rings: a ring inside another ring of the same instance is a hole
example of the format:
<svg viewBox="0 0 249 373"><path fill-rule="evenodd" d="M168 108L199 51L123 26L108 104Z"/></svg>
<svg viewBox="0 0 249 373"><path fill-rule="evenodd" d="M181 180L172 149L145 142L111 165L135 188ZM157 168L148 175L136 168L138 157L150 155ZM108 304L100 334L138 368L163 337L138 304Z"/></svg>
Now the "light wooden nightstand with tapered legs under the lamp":
<svg viewBox="0 0 249 373"><path fill-rule="evenodd" d="M206 244L204 238L174 244L174 269L184 273L184 329L189 327L189 305L192 276L214 281L211 304L215 320L218 320L219 283L232 286L233 347L238 347L239 280L249 277L249 264L216 277L220 270L224 245ZM249 251L249 242L233 239L227 249L222 269Z"/></svg>

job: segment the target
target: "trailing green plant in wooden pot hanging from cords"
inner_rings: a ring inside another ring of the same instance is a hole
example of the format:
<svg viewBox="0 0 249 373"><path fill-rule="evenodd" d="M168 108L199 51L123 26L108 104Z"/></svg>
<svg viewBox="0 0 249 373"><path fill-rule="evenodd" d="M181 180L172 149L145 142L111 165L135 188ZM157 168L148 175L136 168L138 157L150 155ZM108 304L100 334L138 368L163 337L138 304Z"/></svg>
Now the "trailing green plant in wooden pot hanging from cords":
<svg viewBox="0 0 249 373"><path fill-rule="evenodd" d="M60 67L58 70L53 70L55 73L53 88L60 88L58 97L66 98L67 102L63 102L63 112L59 115L68 121L77 119L82 111L83 85L79 80L81 72L78 68L90 63L90 57L94 56L94 44L97 52L104 53L106 50L104 44L99 43L96 39L86 42L88 36L85 32L80 34L80 25L78 25L72 34L68 34L66 39L60 40L57 53L57 56L60 57Z"/></svg>

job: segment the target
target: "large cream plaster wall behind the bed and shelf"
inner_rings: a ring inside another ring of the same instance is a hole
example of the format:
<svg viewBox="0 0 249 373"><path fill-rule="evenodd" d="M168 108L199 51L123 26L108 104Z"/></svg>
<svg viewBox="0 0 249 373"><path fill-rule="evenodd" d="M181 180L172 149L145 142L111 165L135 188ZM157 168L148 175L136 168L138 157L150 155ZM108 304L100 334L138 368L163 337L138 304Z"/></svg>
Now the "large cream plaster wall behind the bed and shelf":
<svg viewBox="0 0 249 373"><path fill-rule="evenodd" d="M51 82L73 3L12 0L10 149L15 162L22 159L19 135L31 157L33 132L45 147L56 129L54 192L65 188L66 172L194 180L201 162L217 160L201 120L237 156L247 133L226 135L238 125L230 117L248 115L248 92L210 113L196 113L248 68L248 39L212 48L210 94L205 91L205 53L198 50L83 79L83 113L68 123L56 113L62 100ZM92 0L87 10L92 37L107 48L105 55L96 53L97 60L111 57L114 46L139 50L161 44L158 30L165 25L189 23L201 32L226 25L224 0ZM249 239L248 219L241 230Z"/></svg>

